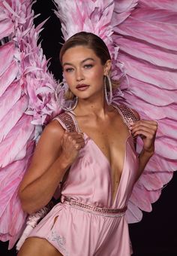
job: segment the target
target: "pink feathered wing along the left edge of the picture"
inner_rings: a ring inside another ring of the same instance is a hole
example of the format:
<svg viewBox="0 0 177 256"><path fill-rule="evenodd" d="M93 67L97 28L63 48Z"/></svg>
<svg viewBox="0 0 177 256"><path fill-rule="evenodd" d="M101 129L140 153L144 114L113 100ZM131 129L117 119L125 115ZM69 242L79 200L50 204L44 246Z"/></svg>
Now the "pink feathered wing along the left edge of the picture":
<svg viewBox="0 0 177 256"><path fill-rule="evenodd" d="M0 1L0 239L10 240L9 248L26 220L17 191L34 139L59 111L55 80L37 46L43 24L35 29L33 18L30 0Z"/></svg>

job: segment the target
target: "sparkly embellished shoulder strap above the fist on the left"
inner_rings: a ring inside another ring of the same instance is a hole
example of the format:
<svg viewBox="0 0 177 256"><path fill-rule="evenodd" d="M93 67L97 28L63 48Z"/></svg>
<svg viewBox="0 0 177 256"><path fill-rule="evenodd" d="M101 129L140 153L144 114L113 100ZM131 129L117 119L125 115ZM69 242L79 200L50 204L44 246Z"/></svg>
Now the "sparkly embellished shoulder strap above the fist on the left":
<svg viewBox="0 0 177 256"><path fill-rule="evenodd" d="M58 120L62 127L71 133L76 132L77 130L77 124L69 112L59 114L57 117L53 118L53 120Z"/></svg>

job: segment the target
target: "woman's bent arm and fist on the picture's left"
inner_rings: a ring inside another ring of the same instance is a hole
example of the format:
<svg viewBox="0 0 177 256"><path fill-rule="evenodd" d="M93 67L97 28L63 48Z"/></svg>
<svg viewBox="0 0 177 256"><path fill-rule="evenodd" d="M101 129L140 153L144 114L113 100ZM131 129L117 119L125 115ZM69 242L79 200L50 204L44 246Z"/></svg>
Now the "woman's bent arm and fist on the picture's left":
<svg viewBox="0 0 177 256"><path fill-rule="evenodd" d="M58 121L46 126L20 184L19 196L25 212L31 214L49 203L83 145L80 134L65 133Z"/></svg>

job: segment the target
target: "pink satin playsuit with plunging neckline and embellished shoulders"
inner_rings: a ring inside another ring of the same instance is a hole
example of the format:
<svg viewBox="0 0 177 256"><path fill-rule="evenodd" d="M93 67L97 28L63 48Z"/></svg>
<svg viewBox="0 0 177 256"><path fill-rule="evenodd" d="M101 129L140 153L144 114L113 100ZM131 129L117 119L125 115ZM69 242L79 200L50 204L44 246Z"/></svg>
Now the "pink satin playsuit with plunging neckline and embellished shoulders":
<svg viewBox="0 0 177 256"><path fill-rule="evenodd" d="M117 108L128 125L132 118L127 111ZM132 115L132 113L129 113ZM71 113L60 114L56 119L68 129L71 118L77 130L77 120ZM68 124L69 122L69 124ZM74 129L76 129L74 127ZM126 140L124 168L113 201L111 169L107 157L98 145L84 134L86 145L72 164L67 181L62 189L62 203L37 224L30 236L47 239L64 256L130 256L126 214L101 214L64 202L71 197L77 202L107 209L123 209L136 181L138 157L133 145L133 137Z"/></svg>

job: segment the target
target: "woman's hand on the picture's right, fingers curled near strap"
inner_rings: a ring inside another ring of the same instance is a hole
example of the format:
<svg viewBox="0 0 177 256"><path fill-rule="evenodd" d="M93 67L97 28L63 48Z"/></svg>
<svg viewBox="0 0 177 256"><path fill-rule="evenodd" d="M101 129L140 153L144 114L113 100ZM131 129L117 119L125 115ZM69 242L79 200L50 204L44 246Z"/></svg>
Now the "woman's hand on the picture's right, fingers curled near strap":
<svg viewBox="0 0 177 256"><path fill-rule="evenodd" d="M154 153L154 139L157 133L156 121L139 120L130 126L130 131L134 137L141 137L144 151Z"/></svg>

